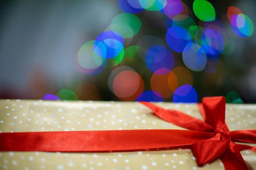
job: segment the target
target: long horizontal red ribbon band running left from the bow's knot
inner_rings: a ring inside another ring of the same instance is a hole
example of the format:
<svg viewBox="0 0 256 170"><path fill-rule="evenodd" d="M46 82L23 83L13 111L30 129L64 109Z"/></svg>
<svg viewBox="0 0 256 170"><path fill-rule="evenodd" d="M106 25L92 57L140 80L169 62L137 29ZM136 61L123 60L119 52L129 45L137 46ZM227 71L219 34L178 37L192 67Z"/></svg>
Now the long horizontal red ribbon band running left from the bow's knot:
<svg viewBox="0 0 256 170"><path fill-rule="evenodd" d="M213 136L169 129L0 133L0 151L136 151L186 146Z"/></svg>

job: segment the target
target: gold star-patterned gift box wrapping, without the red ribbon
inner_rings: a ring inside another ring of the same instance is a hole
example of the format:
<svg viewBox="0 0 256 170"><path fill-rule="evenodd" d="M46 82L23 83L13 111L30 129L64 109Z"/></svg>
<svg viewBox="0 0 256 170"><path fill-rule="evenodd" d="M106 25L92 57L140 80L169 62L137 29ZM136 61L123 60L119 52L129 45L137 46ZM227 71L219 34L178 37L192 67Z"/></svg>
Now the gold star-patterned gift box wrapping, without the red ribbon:
<svg viewBox="0 0 256 170"><path fill-rule="evenodd" d="M203 120L198 105L195 103L158 102L155 104L160 108L181 111ZM0 100L0 132L15 134L13 132L186 130L175 123L160 119L161 115L157 117L153 112L152 108L150 109L141 102ZM183 119L183 121L186 120ZM256 129L255 121L255 104L226 104L225 122L230 131ZM187 124L191 122L188 121ZM136 138L127 137L136 142ZM153 138L148 139L149 142L151 140ZM69 139L65 142L69 143ZM95 142L97 143L97 140ZM247 145L256 146L255 144ZM255 153L251 150L244 150L241 154L247 167L256 169ZM0 169L224 170L224 166L220 159L198 166L197 156L193 154L192 149L181 146L109 153L8 151L0 153Z"/></svg>

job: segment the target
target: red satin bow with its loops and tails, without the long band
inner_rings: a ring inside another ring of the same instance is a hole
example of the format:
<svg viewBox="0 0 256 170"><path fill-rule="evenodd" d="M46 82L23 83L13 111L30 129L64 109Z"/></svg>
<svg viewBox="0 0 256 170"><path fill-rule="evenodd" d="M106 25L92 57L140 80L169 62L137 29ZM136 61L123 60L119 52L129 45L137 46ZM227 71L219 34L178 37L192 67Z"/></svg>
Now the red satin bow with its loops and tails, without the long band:
<svg viewBox="0 0 256 170"><path fill-rule="evenodd" d="M177 126L201 132L211 132L215 136L192 144L199 166L220 158L227 170L247 170L240 154L242 150L256 152L256 147L236 144L256 143L256 130L229 131L225 123L225 98L205 97L198 104L204 122L175 110L165 110L152 103L142 102L161 119Z"/></svg>

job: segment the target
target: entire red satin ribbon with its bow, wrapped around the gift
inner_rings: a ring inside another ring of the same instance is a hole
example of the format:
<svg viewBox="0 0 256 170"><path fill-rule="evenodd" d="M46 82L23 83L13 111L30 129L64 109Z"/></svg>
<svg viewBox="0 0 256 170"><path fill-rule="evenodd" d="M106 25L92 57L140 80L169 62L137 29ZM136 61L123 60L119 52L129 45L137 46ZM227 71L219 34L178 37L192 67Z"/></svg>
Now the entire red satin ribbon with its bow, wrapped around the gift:
<svg viewBox="0 0 256 170"><path fill-rule="evenodd" d="M203 98L198 104L204 121L177 110L141 102L159 118L188 130L113 130L0 133L0 151L110 152L170 149L190 146L199 166L220 158L227 170L247 170L242 150L256 147L256 130L229 131L224 97Z"/></svg>

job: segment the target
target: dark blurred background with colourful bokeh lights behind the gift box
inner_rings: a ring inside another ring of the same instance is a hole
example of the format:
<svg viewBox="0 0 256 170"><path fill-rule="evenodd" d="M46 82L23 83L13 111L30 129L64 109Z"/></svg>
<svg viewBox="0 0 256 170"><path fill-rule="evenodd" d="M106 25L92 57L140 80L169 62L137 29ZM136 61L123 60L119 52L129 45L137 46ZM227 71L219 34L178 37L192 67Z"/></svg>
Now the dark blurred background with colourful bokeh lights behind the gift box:
<svg viewBox="0 0 256 170"><path fill-rule="evenodd" d="M255 0L1 0L0 98L256 102Z"/></svg>

